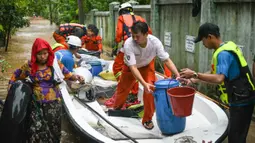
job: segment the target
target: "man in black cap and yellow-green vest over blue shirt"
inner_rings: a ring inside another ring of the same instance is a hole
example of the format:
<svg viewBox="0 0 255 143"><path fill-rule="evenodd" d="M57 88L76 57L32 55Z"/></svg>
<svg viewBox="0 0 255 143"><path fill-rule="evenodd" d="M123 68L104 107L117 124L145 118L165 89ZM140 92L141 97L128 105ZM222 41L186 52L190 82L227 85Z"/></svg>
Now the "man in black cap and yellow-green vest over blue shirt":
<svg viewBox="0 0 255 143"><path fill-rule="evenodd" d="M222 42L220 29L212 23L200 26L195 43L202 41L208 49L213 49L212 69L209 73L197 73L182 69L181 78L226 86L229 103L229 143L245 143L254 108L255 87L242 50L232 41Z"/></svg>

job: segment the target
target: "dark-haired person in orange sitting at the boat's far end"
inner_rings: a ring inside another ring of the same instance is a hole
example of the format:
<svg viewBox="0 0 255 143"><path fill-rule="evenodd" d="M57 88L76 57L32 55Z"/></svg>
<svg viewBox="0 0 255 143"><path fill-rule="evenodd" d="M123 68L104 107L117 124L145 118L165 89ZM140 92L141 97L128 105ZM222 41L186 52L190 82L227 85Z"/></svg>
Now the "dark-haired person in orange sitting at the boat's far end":
<svg viewBox="0 0 255 143"><path fill-rule="evenodd" d="M103 51L103 46L102 38L100 35L98 35L99 30L93 24L88 25L87 29L87 35L82 38L82 41L85 44L85 49L87 49L89 52L98 52L94 56L100 58Z"/></svg>

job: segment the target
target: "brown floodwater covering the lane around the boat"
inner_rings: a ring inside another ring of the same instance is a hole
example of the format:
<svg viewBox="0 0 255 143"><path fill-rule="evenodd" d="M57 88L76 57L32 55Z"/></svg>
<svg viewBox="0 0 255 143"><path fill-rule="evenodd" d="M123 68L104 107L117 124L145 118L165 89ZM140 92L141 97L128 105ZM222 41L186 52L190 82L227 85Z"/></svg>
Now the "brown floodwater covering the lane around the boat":
<svg viewBox="0 0 255 143"><path fill-rule="evenodd" d="M30 59L32 44L36 38L43 38L51 45L55 40L52 33L55 30L55 25L50 25L48 20L31 19L30 27L19 29L15 35L10 39L8 52L4 52L4 48L0 49L0 59L4 58L10 63L11 68L1 76L0 79L0 99L5 98L7 94L7 83L11 73L19 68L24 62ZM107 51L107 49L104 49ZM79 143L91 142L83 138L70 124L66 114L63 114L62 121L62 143ZM225 141L227 142L227 141ZM247 143L255 142L255 123L252 122L250 126Z"/></svg>

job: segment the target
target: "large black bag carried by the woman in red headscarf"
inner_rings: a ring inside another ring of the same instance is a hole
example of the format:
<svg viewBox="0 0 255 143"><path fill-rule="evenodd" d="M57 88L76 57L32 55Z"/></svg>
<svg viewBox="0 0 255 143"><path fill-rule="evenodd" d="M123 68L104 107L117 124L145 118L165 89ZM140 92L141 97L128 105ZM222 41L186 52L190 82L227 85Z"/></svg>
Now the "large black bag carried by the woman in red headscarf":
<svg viewBox="0 0 255 143"><path fill-rule="evenodd" d="M0 119L0 142L23 143L27 139L32 88L28 82L16 81L6 97Z"/></svg>

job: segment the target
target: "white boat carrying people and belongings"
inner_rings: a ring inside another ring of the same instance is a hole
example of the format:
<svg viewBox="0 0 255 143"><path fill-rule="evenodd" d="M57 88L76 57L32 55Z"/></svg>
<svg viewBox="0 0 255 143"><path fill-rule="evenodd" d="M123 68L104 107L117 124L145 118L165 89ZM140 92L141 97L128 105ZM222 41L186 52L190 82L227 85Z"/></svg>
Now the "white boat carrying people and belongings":
<svg viewBox="0 0 255 143"><path fill-rule="evenodd" d="M163 79L159 74L157 77ZM155 127L147 130L142 126L141 119L108 116L96 100L83 102L78 98L79 95L68 93L65 83L60 87L70 122L83 135L95 142L214 143L222 142L226 138L227 115L217 104L199 92L195 94L191 116L186 117L185 130L167 136L163 135L157 126L155 114L153 116ZM141 97L142 93L143 87L140 86L138 96Z"/></svg>

